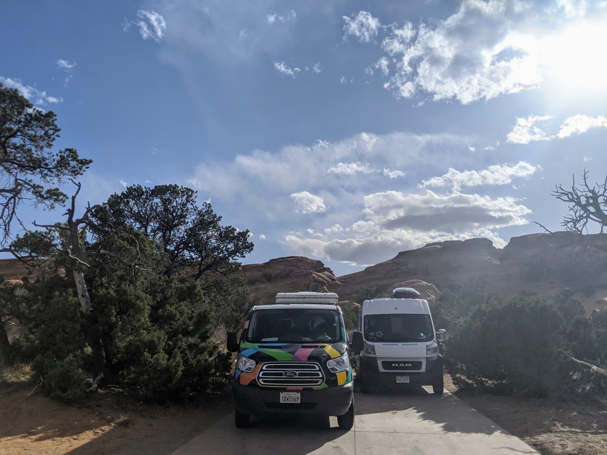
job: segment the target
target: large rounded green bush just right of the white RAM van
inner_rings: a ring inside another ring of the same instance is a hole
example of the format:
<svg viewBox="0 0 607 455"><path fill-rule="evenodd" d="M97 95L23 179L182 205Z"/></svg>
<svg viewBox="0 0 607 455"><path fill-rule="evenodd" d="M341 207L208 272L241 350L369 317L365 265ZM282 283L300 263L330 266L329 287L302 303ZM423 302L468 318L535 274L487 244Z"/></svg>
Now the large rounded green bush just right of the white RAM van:
<svg viewBox="0 0 607 455"><path fill-rule="evenodd" d="M532 397L571 387L563 318L544 300L520 297L476 309L449 343L447 369L456 385Z"/></svg>

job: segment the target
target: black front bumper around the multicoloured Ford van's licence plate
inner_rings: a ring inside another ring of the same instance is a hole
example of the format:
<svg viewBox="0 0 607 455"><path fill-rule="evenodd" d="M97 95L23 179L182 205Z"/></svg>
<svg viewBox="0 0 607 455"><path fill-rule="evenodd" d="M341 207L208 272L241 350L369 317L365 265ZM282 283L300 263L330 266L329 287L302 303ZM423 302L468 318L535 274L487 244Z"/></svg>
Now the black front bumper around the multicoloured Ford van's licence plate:
<svg viewBox="0 0 607 455"><path fill-rule="evenodd" d="M299 392L300 403L280 403L280 392ZM234 407L243 414L297 413L320 416L342 416L353 399L353 383L320 390L287 390L261 388L232 383Z"/></svg>

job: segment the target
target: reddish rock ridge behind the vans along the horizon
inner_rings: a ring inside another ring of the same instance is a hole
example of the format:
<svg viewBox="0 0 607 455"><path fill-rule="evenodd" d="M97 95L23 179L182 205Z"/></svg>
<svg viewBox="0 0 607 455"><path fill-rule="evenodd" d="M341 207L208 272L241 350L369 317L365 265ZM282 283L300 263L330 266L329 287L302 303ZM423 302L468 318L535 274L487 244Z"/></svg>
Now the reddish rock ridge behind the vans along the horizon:
<svg viewBox="0 0 607 455"><path fill-rule="evenodd" d="M606 308L607 271L600 273L600 268L607 263L607 254L587 245L592 241L607 246L607 235L586 236L586 246L575 244L575 238L564 232L523 235L513 237L503 249L495 248L487 238L435 242L341 277L335 277L321 261L305 257L245 265L242 272L262 302L271 302L276 292L329 291L352 300L365 288L388 297L394 288L411 287L432 304L441 287L466 286L475 280L484 283L486 294L504 299L521 291L551 297L567 288L572 274L586 268L599 273L592 286L576 292L575 298L588 312Z"/></svg>

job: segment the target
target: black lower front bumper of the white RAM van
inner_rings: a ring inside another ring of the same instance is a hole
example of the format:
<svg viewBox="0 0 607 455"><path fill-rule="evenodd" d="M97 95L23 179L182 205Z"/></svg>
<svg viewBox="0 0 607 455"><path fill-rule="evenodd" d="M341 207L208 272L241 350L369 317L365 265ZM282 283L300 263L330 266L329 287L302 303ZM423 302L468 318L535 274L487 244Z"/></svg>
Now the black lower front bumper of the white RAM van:
<svg viewBox="0 0 607 455"><path fill-rule="evenodd" d="M433 385L438 383L443 377L443 357L426 360L426 371L379 371L377 357L359 357L362 375L356 371L356 376L363 376L365 382L369 385L403 386L407 383L396 383L396 376L409 376L409 385Z"/></svg>

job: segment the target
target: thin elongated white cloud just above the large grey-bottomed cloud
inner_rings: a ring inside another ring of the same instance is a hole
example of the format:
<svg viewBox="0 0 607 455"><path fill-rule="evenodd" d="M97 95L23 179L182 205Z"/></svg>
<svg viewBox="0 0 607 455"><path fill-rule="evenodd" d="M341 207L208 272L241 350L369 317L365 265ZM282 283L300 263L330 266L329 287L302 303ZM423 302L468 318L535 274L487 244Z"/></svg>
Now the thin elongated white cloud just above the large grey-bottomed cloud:
<svg viewBox="0 0 607 455"><path fill-rule="evenodd" d="M524 161L519 161L517 164L495 164L480 171L459 172L450 167L447 174L424 180L419 187L450 186L458 191L463 186L506 185L512 183L513 178L529 178L540 169L540 166L531 166Z"/></svg>

